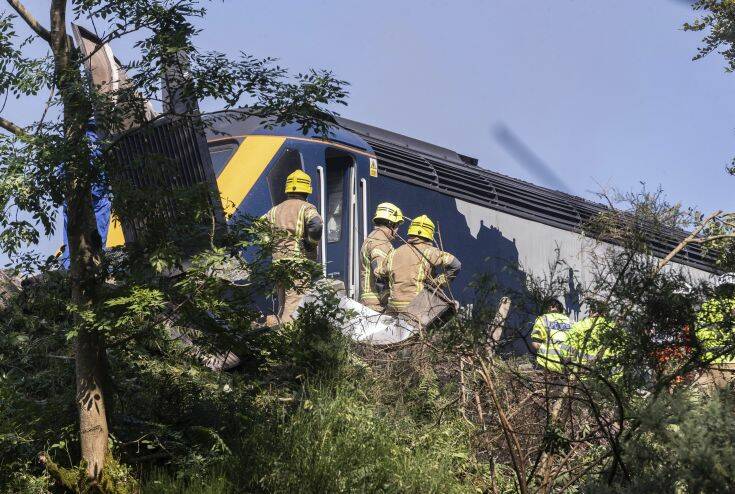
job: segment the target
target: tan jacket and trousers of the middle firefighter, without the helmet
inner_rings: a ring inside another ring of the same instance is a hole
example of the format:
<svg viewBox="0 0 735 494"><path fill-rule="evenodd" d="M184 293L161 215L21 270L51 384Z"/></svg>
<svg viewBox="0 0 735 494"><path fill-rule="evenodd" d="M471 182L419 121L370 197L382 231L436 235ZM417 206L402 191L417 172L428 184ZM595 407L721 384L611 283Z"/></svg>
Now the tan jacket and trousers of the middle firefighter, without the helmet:
<svg viewBox="0 0 735 494"><path fill-rule="evenodd" d="M360 249L360 301L363 304L385 304L388 298L387 286L378 286L375 273L392 251L390 228L376 226Z"/></svg>

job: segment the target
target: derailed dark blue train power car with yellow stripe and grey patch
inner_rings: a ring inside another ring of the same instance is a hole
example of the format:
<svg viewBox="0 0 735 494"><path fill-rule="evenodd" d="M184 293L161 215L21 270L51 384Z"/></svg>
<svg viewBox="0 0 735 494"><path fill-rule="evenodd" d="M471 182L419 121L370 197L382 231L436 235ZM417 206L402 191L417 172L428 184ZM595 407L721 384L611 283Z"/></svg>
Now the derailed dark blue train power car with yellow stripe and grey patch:
<svg viewBox="0 0 735 494"><path fill-rule="evenodd" d="M82 48L99 42L81 28L75 34ZM118 71L109 50L95 56L93 78ZM304 134L296 125L243 119L236 111L205 118L206 135L184 121L161 119L144 134L123 140L119 156L131 163L146 154L168 157L174 164L169 185L216 189L222 218L264 214L285 199L286 176L305 171L315 185L309 200L325 223L319 248L324 275L343 281L353 299L360 296L360 246L375 207L388 201L408 216L427 214L435 221L441 247L462 261L452 286L460 303L474 301L472 281L479 274L489 273L503 290L522 293L528 275L548 271L559 258L567 269L566 305L579 317L580 291L592 280L596 250L581 228L604 206L481 168L476 159L450 149L344 118L335 118L326 136ZM133 186L142 185L145 172L129 179ZM400 234L405 237L405 226ZM682 238L679 231L656 232L649 244L663 256ZM103 240L113 247L135 239L136 225L112 221ZM679 253L675 262L696 278L713 269L712 259L697 245Z"/></svg>

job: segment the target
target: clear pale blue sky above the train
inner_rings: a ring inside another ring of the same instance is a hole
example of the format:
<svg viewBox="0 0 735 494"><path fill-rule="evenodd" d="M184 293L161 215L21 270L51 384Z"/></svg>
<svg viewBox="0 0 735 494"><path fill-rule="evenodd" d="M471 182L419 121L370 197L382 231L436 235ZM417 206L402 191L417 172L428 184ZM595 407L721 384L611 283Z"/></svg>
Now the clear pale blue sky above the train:
<svg viewBox="0 0 735 494"><path fill-rule="evenodd" d="M48 3L26 0L41 19ZM701 35L681 29L694 17L686 1L225 0L208 9L200 49L330 69L351 84L349 106L337 108L347 118L588 199L643 182L685 206L735 207L725 173L735 76L719 55L692 61ZM129 60L131 45L112 48ZM30 122L40 107L8 101L2 115ZM539 164L550 172L534 173Z"/></svg>

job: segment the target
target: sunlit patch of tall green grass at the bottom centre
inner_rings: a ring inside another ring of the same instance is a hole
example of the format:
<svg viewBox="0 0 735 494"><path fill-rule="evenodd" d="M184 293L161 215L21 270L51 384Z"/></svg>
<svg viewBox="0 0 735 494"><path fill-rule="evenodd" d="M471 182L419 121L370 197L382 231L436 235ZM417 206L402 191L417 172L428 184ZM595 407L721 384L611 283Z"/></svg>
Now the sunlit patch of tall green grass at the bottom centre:
<svg viewBox="0 0 735 494"><path fill-rule="evenodd" d="M471 461L466 424L455 418L422 425L385 413L359 387L313 390L259 452L271 458L261 487L284 493L475 490L473 481L482 477Z"/></svg>

